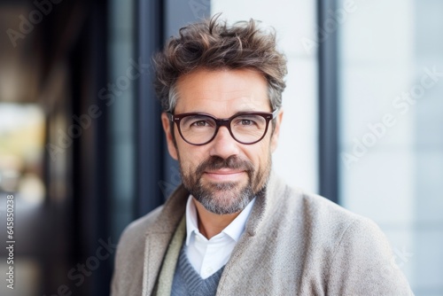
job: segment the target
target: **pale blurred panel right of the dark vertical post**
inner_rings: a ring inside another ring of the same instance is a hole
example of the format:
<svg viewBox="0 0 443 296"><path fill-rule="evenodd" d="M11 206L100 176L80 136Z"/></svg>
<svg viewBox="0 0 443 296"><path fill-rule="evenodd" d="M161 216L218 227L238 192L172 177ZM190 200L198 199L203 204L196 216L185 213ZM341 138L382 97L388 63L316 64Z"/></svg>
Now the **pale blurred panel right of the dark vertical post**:
<svg viewBox="0 0 443 296"><path fill-rule="evenodd" d="M355 1L338 46L340 200L384 230L416 295L443 293L442 10Z"/></svg>

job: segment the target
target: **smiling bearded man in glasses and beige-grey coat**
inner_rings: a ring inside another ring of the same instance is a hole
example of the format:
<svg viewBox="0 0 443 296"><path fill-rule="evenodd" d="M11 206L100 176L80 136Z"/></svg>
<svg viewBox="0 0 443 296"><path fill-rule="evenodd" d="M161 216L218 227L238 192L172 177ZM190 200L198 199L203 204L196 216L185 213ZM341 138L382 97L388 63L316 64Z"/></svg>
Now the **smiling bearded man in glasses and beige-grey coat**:
<svg viewBox="0 0 443 296"><path fill-rule="evenodd" d="M120 238L118 295L409 295L377 226L271 169L286 60L253 20L184 27L154 58L183 184Z"/></svg>

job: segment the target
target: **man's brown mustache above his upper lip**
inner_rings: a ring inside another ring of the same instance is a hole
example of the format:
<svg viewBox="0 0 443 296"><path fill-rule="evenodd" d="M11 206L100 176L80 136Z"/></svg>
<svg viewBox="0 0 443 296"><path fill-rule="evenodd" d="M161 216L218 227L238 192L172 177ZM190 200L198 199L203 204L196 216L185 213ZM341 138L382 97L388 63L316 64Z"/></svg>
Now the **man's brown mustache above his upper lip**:
<svg viewBox="0 0 443 296"><path fill-rule="evenodd" d="M253 163L249 160L241 160L237 156L229 156L223 159L220 156L210 156L208 159L198 165L196 175L202 175L206 170L215 170L221 168L241 169L248 173L253 172Z"/></svg>

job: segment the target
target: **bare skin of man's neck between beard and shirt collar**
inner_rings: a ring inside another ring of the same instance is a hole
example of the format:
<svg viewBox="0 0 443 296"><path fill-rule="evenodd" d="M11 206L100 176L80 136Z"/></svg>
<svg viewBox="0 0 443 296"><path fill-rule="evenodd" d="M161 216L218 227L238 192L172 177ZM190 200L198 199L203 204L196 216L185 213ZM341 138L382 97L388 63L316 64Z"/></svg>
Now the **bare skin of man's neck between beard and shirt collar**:
<svg viewBox="0 0 443 296"><path fill-rule="evenodd" d="M198 200L193 199L194 205L197 209L198 231L203 234L207 239L213 238L217 234L224 230L230 222L236 219L235 214L214 214L206 210L205 206L200 204Z"/></svg>

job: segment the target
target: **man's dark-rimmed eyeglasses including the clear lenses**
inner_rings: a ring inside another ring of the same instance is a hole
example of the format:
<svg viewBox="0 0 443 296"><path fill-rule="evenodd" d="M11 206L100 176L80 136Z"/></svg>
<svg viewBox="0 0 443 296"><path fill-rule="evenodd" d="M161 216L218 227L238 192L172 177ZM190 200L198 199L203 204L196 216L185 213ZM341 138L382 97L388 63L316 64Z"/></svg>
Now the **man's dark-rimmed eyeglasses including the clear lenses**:
<svg viewBox="0 0 443 296"><path fill-rule="evenodd" d="M211 142L220 127L226 127L238 143L255 144L268 131L269 121L276 118L278 109L270 112L237 113L226 119L219 119L206 113L167 113L170 121L176 123L183 140L193 145Z"/></svg>

